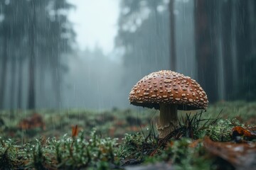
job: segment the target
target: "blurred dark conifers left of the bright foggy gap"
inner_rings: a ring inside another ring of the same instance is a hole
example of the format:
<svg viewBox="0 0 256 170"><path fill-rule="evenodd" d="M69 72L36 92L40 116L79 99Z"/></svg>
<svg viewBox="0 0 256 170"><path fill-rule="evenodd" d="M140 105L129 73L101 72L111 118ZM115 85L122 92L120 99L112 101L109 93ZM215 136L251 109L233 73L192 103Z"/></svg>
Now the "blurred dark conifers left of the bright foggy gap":
<svg viewBox="0 0 256 170"><path fill-rule="evenodd" d="M66 0L0 0L0 108L60 106L63 54L75 37L70 8Z"/></svg>

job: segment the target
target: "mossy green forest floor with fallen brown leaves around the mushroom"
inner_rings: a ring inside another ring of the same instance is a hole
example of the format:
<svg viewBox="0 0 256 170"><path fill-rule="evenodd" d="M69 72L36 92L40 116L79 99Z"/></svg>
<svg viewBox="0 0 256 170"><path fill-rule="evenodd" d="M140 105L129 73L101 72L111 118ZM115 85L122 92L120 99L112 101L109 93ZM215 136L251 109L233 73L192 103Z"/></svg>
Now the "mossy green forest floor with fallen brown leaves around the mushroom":
<svg viewBox="0 0 256 170"><path fill-rule="evenodd" d="M1 111L0 169L253 169L256 102L180 111L159 140L159 111Z"/></svg>

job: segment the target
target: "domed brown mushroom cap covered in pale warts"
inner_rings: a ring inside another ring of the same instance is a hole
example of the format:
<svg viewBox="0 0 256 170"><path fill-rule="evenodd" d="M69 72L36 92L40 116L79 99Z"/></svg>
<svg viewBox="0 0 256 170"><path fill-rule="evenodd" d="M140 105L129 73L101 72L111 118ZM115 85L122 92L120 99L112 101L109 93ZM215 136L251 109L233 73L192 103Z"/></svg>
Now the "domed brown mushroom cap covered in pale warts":
<svg viewBox="0 0 256 170"><path fill-rule="evenodd" d="M129 94L132 105L159 109L159 103L178 106L178 110L206 109L206 92L190 77L169 70L143 77Z"/></svg>

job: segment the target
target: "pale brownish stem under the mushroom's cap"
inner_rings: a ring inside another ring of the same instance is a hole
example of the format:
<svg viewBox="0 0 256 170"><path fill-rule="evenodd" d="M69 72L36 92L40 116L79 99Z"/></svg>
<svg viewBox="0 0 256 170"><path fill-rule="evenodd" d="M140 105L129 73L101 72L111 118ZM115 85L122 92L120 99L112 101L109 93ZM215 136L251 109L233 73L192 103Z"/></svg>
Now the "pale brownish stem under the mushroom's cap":
<svg viewBox="0 0 256 170"><path fill-rule="evenodd" d="M163 139L175 130L178 125L177 106L160 103L160 117L156 128L159 132L159 138Z"/></svg>

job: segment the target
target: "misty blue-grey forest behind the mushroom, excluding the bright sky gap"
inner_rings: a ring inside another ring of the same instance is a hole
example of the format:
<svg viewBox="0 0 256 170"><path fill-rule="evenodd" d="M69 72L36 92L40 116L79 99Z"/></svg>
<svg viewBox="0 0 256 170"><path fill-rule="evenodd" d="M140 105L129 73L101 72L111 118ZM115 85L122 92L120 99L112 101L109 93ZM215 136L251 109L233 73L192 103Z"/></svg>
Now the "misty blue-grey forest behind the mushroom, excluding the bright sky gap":
<svg viewBox="0 0 256 170"><path fill-rule="evenodd" d="M115 50L105 55L78 49L68 1L0 0L0 109L127 108L132 86L161 69L196 79L210 103L255 101L255 0L119 7Z"/></svg>

